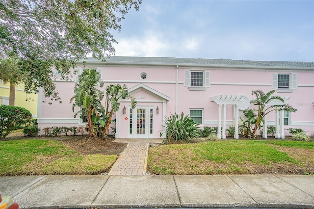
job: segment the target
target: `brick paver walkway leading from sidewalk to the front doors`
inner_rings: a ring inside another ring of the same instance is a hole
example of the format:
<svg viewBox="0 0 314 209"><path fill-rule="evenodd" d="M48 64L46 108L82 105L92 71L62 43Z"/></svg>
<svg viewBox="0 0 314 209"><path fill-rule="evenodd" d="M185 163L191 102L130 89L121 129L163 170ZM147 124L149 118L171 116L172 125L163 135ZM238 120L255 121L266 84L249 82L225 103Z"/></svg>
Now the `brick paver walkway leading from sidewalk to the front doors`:
<svg viewBox="0 0 314 209"><path fill-rule="evenodd" d="M114 142L129 143L118 160L113 164L108 175L145 175L148 145L161 143L162 139L116 139Z"/></svg>

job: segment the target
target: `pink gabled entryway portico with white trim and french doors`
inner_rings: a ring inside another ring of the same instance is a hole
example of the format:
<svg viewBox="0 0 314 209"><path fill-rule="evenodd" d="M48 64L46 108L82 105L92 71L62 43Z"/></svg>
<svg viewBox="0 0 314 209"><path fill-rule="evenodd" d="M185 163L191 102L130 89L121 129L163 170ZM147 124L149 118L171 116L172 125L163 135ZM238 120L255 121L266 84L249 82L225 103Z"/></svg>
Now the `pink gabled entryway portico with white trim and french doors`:
<svg viewBox="0 0 314 209"><path fill-rule="evenodd" d="M131 100L121 100L116 116L116 138L159 138L170 97L143 83L131 87L128 93L137 104L132 109Z"/></svg>

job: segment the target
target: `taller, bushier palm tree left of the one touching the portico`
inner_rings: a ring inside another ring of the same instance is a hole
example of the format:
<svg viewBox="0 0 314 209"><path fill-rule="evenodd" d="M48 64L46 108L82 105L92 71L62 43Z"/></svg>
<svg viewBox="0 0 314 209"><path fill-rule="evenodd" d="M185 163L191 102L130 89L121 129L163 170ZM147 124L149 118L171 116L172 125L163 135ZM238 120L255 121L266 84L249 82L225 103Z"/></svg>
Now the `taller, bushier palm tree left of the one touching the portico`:
<svg viewBox="0 0 314 209"><path fill-rule="evenodd" d="M89 138L97 138L97 130L95 130L95 118L98 118L100 112L104 112L104 106L101 101L104 99L104 92L97 89L97 87L103 87L104 81L101 79L99 72L95 70L84 70L84 72L78 76L78 83L74 88L74 97L71 98L70 103L75 100L72 105L72 111L74 107L79 106L81 109L78 113L87 115L87 128L89 131ZM94 121L92 120L94 119Z"/></svg>

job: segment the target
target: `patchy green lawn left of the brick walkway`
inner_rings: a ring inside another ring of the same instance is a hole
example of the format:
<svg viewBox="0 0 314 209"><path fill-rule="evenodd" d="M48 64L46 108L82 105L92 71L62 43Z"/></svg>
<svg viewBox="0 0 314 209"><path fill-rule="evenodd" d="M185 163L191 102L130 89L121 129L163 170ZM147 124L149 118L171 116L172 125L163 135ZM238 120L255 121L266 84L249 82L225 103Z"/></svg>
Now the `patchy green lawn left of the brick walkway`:
<svg viewBox="0 0 314 209"><path fill-rule="evenodd" d="M98 174L108 171L116 156L79 155L53 140L0 141L0 176Z"/></svg>

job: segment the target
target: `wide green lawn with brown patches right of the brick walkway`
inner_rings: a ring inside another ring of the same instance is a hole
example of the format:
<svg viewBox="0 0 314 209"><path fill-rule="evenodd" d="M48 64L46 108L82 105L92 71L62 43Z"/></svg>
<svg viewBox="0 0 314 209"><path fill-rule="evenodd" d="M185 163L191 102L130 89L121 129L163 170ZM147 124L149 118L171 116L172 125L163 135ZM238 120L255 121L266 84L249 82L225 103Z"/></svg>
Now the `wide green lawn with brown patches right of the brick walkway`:
<svg viewBox="0 0 314 209"><path fill-rule="evenodd" d="M159 175L314 174L314 142L230 140L149 149Z"/></svg>

